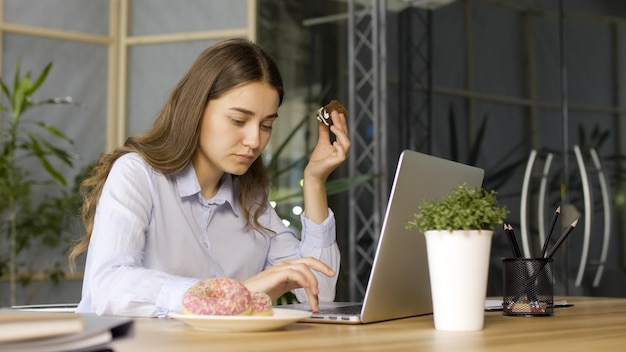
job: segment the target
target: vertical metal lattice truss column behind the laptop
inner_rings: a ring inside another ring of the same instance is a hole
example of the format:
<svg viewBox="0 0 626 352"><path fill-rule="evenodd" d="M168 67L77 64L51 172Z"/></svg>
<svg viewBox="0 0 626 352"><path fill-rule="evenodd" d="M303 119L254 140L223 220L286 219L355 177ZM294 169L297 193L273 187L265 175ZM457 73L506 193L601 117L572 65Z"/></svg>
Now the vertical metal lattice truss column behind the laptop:
<svg viewBox="0 0 626 352"><path fill-rule="evenodd" d="M386 1L348 2L348 105L352 178L380 173L385 167L386 140ZM384 180L350 189L349 296L363 297L381 226Z"/></svg>

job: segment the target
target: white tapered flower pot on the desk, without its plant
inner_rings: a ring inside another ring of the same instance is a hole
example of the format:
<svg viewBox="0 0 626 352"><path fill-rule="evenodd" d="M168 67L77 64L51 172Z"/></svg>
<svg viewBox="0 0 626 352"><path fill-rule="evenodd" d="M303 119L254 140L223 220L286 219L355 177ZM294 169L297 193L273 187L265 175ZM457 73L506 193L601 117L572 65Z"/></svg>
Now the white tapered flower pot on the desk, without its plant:
<svg viewBox="0 0 626 352"><path fill-rule="evenodd" d="M493 231L425 231L435 329L481 330Z"/></svg>

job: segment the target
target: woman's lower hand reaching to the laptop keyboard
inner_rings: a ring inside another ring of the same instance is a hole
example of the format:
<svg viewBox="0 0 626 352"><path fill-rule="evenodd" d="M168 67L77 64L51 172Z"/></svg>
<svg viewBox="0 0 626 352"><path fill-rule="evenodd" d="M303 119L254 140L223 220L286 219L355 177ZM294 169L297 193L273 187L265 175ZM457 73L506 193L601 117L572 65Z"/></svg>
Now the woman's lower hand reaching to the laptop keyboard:
<svg viewBox="0 0 626 352"><path fill-rule="evenodd" d="M319 310L319 288L313 270L328 277L335 272L323 262L312 258L300 258L282 261L245 280L243 284L250 291L267 293L272 301L297 288L304 288L311 310Z"/></svg>

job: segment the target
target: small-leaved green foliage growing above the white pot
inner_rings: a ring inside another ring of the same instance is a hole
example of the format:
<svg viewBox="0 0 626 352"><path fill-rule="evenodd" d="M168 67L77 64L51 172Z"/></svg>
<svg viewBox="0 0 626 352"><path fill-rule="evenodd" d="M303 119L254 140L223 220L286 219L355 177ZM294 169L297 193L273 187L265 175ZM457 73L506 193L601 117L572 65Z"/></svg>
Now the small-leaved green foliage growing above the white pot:
<svg viewBox="0 0 626 352"><path fill-rule="evenodd" d="M457 186L440 200L425 200L405 225L407 229L428 230L494 230L502 224L508 211L500 206L494 190Z"/></svg>

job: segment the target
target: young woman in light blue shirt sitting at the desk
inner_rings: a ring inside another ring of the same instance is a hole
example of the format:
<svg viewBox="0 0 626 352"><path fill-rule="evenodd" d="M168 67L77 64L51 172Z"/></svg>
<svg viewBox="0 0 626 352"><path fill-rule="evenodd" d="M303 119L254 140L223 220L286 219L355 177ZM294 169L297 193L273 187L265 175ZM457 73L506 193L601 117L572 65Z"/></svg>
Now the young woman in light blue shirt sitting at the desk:
<svg viewBox="0 0 626 352"><path fill-rule="evenodd" d="M82 184L86 235L70 253L87 251L78 312L165 316L195 283L222 276L272 299L294 291L313 310L334 299L340 255L325 183L350 149L346 119L333 112L330 129L320 124L298 240L269 205L261 158L282 100L258 45L231 39L200 54L152 128L103 155Z"/></svg>

